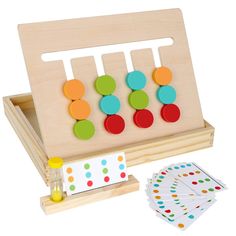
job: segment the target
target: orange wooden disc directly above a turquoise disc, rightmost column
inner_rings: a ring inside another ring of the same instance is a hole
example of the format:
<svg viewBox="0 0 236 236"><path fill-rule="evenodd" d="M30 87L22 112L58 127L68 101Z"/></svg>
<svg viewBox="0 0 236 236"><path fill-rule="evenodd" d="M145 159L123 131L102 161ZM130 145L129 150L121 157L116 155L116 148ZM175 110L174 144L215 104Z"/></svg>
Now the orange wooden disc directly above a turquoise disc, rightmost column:
<svg viewBox="0 0 236 236"><path fill-rule="evenodd" d="M158 85L167 85L172 80L172 72L169 68L164 66L156 68L152 73L152 79Z"/></svg>

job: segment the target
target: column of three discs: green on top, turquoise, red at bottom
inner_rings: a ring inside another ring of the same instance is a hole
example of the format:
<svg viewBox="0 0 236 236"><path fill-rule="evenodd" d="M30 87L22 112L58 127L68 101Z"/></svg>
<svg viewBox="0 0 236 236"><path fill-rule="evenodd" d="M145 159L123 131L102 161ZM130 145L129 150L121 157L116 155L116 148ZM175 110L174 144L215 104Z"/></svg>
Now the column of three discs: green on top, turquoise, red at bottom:
<svg viewBox="0 0 236 236"><path fill-rule="evenodd" d="M95 80L95 89L103 97L99 101L100 110L107 115L104 127L111 134L120 134L125 129L125 121L117 113L120 110L120 100L112 95L116 89L116 82L110 75L99 76Z"/></svg>

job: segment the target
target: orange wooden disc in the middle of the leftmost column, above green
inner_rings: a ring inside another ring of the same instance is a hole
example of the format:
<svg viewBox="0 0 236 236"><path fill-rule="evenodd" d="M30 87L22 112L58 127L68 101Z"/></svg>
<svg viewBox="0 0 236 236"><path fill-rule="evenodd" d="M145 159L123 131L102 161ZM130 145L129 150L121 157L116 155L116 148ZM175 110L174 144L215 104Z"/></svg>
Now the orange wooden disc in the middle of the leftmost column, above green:
<svg viewBox="0 0 236 236"><path fill-rule="evenodd" d="M76 120L84 120L89 117L91 108L86 101L79 99L69 105L69 113Z"/></svg>

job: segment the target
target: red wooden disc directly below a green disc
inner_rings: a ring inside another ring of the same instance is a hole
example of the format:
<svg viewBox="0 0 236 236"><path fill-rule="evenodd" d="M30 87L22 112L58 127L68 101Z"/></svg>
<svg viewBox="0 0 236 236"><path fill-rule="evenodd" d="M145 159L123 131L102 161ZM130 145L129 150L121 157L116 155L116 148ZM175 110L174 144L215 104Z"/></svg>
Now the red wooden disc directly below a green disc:
<svg viewBox="0 0 236 236"><path fill-rule="evenodd" d="M152 113L147 110L138 110L134 113L134 123L139 127L139 128L148 128L153 124L154 117Z"/></svg>

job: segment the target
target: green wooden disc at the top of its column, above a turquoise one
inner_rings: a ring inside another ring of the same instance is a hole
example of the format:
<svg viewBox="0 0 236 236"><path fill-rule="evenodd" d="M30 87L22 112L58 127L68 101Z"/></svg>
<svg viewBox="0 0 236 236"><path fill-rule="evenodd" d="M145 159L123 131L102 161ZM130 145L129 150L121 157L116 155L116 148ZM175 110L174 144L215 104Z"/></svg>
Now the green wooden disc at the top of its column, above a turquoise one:
<svg viewBox="0 0 236 236"><path fill-rule="evenodd" d="M110 95L116 89L116 82L110 75L102 75L97 77L95 89L101 95Z"/></svg>

